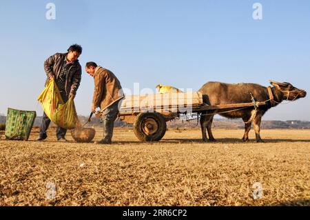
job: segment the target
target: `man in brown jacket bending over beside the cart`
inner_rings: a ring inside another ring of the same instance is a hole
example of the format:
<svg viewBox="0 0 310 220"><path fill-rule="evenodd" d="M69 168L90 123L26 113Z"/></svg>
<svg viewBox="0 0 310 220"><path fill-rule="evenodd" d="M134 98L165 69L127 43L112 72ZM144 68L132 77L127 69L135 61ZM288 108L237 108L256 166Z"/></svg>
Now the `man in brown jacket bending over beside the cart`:
<svg viewBox="0 0 310 220"><path fill-rule="evenodd" d="M94 62L86 63L85 71L94 77L94 95L91 111L101 109L103 123L103 139L95 141L99 144L112 143L114 121L117 118L121 99L124 98L121 83L110 70L97 66Z"/></svg>

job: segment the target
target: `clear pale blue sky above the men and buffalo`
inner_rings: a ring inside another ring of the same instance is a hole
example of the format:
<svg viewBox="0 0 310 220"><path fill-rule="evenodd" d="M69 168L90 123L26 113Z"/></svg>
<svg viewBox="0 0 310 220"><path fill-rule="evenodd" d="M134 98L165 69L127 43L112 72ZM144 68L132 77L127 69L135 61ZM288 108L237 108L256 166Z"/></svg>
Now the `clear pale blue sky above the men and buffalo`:
<svg viewBox="0 0 310 220"><path fill-rule="evenodd" d="M47 3L56 20L47 20ZM254 20L253 4L262 4ZM289 81L310 92L310 1L1 1L0 112L37 110L43 62L72 43L80 63L112 70L123 88L158 83L198 90L207 81ZM83 72L79 114L90 112L93 79ZM310 95L310 93L309 93ZM309 96L264 119L310 120Z"/></svg>

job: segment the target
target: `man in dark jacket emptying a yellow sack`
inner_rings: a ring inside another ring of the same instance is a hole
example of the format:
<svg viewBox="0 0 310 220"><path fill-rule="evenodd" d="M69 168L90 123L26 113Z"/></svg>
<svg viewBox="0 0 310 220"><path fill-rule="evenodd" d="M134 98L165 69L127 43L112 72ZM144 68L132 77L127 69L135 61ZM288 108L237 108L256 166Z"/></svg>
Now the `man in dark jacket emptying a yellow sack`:
<svg viewBox="0 0 310 220"><path fill-rule="evenodd" d="M82 68L79 63L79 56L82 53L81 46L74 44L70 46L67 53L56 53L49 57L44 63L44 70L48 76L46 83L50 79L54 79L63 101L68 101L69 98L74 99L76 90L78 90L81 82ZM38 141L42 141L48 137L46 130L50 125L50 119L43 114ZM66 129L58 127L56 137L58 141L65 142Z"/></svg>

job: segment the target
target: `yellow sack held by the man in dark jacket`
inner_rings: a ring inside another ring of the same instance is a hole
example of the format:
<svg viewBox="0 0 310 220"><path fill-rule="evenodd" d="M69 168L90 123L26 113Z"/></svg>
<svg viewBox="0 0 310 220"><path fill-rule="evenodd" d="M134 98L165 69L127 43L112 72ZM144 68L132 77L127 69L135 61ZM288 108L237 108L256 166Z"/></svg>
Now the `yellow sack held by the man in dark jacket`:
<svg viewBox="0 0 310 220"><path fill-rule="evenodd" d="M54 79L48 81L45 89L39 95L38 101L48 118L57 126L65 129L76 127L78 120L74 101L69 99L66 103L63 103Z"/></svg>

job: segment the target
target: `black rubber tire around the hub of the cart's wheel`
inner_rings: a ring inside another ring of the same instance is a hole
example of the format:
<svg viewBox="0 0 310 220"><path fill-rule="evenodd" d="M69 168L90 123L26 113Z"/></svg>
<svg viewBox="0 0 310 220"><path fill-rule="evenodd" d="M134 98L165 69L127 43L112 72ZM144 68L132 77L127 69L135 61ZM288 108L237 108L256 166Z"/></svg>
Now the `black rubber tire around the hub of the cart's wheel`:
<svg viewBox="0 0 310 220"><path fill-rule="evenodd" d="M158 123L158 130L152 135L147 135L141 130L141 123L144 119L152 118ZM157 112L143 112L136 116L136 121L134 121L134 134L140 141L159 141L161 140L167 130L166 120L163 115Z"/></svg>

